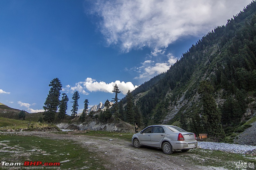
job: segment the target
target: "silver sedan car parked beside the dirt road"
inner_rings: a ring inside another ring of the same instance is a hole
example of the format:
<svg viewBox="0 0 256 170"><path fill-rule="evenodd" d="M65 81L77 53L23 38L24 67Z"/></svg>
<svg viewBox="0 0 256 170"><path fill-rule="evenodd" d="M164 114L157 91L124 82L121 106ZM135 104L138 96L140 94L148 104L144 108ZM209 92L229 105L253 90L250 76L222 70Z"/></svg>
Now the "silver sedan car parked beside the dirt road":
<svg viewBox="0 0 256 170"><path fill-rule="evenodd" d="M196 135L172 125L151 125L132 136L135 148L152 146L162 148L165 154L175 150L188 152L197 147Z"/></svg>

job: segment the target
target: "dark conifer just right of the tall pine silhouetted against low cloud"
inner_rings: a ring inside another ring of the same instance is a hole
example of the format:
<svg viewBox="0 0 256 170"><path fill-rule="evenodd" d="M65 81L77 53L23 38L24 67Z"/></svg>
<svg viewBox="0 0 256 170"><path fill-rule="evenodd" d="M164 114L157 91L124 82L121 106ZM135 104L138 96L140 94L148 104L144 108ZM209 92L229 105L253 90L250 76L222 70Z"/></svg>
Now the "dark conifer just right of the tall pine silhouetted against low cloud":
<svg viewBox="0 0 256 170"><path fill-rule="evenodd" d="M126 121L129 122L130 124L134 123L134 103L132 101L132 93L130 92L130 90L128 90L127 94L126 94L126 108L125 108L125 113L126 113Z"/></svg>

